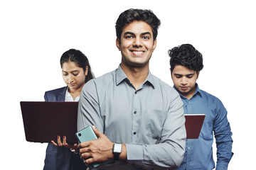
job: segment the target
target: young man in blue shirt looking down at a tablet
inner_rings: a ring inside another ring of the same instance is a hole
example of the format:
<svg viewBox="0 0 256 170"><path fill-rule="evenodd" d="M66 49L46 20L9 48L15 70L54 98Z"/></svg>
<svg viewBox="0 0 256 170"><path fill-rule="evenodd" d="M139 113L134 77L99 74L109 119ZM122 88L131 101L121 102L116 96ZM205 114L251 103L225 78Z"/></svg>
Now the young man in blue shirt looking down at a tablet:
<svg viewBox="0 0 256 170"><path fill-rule="evenodd" d="M214 169L213 132L217 146L216 170L228 169L233 156L230 124L223 103L199 89L196 80L203 69L203 57L193 45L183 44L169 50L171 79L183 101L184 114L206 114L200 136L186 140L186 152L178 169Z"/></svg>

